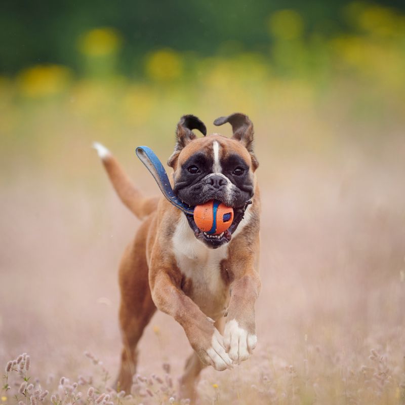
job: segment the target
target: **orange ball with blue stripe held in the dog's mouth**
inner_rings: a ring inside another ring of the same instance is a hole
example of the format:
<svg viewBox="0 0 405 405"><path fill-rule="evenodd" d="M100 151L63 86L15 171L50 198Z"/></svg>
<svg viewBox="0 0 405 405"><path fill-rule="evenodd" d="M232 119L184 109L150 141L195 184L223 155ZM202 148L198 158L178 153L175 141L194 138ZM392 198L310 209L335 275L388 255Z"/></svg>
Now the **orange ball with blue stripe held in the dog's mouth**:
<svg viewBox="0 0 405 405"><path fill-rule="evenodd" d="M218 235L226 231L231 226L232 221L232 208L220 201L212 199L194 208L195 224L210 235Z"/></svg>

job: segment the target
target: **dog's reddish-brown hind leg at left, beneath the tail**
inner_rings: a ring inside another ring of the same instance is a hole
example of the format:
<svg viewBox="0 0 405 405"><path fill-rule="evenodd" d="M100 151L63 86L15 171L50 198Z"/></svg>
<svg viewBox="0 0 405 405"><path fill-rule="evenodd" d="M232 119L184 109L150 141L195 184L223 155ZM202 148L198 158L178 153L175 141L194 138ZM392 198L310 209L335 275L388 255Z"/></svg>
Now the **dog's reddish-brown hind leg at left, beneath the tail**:
<svg viewBox="0 0 405 405"><path fill-rule="evenodd" d="M119 268L119 323L123 349L116 388L127 393L131 391L132 376L136 372L138 342L156 311L149 288L145 255L147 226L148 221L141 225L134 242L125 251Z"/></svg>

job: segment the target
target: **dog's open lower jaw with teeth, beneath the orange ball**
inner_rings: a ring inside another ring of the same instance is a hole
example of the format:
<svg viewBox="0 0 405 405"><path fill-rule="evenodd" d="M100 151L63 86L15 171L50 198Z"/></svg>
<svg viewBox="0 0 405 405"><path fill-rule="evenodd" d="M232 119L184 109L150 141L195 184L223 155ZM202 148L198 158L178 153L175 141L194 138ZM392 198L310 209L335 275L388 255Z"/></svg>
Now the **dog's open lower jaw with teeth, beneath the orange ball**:
<svg viewBox="0 0 405 405"><path fill-rule="evenodd" d="M233 209L233 221L231 226L224 232L220 233L219 235L210 235L207 232L202 231L198 228L194 221L194 217L190 214L184 214L187 218L188 224L190 225L191 229L194 232L194 236L204 242L209 248L217 249L222 245L227 244L231 238L232 233L236 230L239 222L243 219L246 208L249 204L252 204L252 201L247 201L244 206L237 207Z"/></svg>

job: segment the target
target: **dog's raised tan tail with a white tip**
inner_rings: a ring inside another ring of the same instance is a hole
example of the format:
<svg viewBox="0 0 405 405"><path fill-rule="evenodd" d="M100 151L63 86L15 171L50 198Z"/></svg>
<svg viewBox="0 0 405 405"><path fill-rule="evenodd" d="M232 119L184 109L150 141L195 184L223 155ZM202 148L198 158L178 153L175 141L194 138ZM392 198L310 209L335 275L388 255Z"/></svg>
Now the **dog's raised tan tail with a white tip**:
<svg viewBox="0 0 405 405"><path fill-rule="evenodd" d="M94 142L93 148L97 150L119 198L139 219L156 210L158 197L145 197L105 146Z"/></svg>

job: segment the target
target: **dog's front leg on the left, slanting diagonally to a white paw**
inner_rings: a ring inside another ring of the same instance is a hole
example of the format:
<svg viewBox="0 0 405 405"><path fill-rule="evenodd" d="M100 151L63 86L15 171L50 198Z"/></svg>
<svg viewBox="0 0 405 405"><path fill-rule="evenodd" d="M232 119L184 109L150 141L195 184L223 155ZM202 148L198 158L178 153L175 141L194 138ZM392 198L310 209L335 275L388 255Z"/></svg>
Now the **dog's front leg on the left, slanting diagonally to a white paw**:
<svg viewBox="0 0 405 405"><path fill-rule="evenodd" d="M156 307L180 323L201 361L218 371L230 368L232 360L225 351L223 338L214 327L214 321L180 289L179 275L170 266L166 268L167 261L153 262L149 284Z"/></svg>

